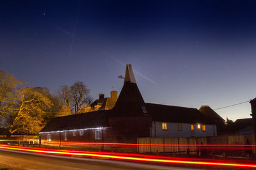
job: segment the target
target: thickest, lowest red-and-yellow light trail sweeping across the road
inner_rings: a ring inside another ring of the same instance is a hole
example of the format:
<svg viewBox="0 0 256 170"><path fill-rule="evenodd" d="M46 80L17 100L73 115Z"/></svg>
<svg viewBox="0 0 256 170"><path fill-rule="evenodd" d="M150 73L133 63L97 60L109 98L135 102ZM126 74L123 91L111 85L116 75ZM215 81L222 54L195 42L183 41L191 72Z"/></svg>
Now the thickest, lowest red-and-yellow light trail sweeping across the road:
<svg viewBox="0 0 256 170"><path fill-rule="evenodd" d="M57 155L70 155L70 156L84 156L84 157L97 157L97 158L106 158L106 159L118 159L118 160L134 160L140 162L157 162L157 163L169 163L169 164L190 164L190 165L204 165L204 166L229 166L229 167L253 167L256 168L255 164L236 164L232 162L209 162L202 161L198 159L195 160L174 160L163 159L163 157L148 158L148 157L138 157L137 154L134 154L134 157L129 155L122 155L123 153L111 153L109 155L106 152L80 152L72 150L53 150L53 149L42 149L42 148L29 148L23 146L10 146L10 145L0 145L0 148L5 150L17 150L23 152L34 152L34 153L47 153L47 154L57 154ZM114 155L115 154L115 155ZM128 153L127 153L128 154ZM136 156L135 156L136 155Z"/></svg>

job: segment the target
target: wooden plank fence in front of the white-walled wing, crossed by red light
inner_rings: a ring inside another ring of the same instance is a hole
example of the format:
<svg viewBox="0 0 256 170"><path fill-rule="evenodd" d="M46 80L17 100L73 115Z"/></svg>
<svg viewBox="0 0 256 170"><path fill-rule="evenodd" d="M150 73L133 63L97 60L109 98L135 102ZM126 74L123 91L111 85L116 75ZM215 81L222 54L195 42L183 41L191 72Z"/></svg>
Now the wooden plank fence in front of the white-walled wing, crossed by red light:
<svg viewBox="0 0 256 170"><path fill-rule="evenodd" d="M137 138L138 153L173 153L187 155L241 155L246 153L256 154L255 148L231 148L231 146L221 149L211 147L196 147L191 145L252 145L253 135L225 135L198 138ZM203 149L202 149L203 148ZM205 148L205 149L204 149Z"/></svg>

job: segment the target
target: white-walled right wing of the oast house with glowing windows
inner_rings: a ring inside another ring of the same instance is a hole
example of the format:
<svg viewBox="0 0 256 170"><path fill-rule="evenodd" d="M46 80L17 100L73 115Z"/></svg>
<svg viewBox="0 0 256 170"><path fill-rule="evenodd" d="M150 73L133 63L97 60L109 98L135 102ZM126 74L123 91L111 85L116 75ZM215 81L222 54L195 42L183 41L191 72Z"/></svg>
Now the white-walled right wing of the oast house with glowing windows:
<svg viewBox="0 0 256 170"><path fill-rule="evenodd" d="M147 103L152 117L152 137L216 136L216 125L195 108Z"/></svg>

